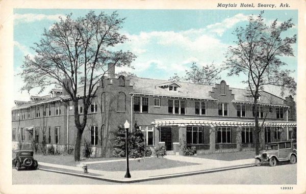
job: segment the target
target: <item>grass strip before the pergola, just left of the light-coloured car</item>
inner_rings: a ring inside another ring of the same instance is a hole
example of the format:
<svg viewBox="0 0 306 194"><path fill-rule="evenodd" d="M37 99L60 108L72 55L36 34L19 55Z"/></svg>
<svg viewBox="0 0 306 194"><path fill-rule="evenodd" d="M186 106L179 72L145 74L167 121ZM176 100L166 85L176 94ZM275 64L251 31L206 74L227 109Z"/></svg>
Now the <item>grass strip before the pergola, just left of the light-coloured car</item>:
<svg viewBox="0 0 306 194"><path fill-rule="evenodd" d="M241 152L223 152L223 153L214 153L214 154L203 154L203 155L196 155L193 157L232 161L232 160L254 158L254 156L255 156L254 151L241 151Z"/></svg>

